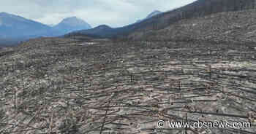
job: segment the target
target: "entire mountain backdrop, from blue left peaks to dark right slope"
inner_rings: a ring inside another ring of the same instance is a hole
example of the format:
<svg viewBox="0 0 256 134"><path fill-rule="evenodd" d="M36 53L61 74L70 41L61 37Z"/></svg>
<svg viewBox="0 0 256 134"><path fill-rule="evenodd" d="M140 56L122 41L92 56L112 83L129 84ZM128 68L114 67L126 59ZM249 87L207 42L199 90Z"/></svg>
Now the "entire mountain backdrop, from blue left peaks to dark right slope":
<svg viewBox="0 0 256 134"><path fill-rule="evenodd" d="M138 31L157 31L179 20L203 17L217 12L253 9L255 7L256 0L197 0L184 7L162 12L158 15L155 15L157 12L153 12L151 15L148 15L149 18L140 23L126 25L121 28L110 28L108 25L99 25L92 29L89 29L91 26L88 23L77 17L66 18L58 25L50 27L49 25L38 23L18 15L1 12L0 43L1 41L19 41L39 36L61 36L63 34L79 34L99 38L122 38ZM129 37L133 38L132 36Z"/></svg>

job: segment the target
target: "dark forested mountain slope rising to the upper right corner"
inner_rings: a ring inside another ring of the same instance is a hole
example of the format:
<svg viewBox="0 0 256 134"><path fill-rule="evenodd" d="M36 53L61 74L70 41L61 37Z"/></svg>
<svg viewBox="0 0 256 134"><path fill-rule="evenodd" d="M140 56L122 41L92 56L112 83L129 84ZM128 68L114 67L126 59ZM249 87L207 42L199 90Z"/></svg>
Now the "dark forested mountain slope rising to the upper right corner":
<svg viewBox="0 0 256 134"><path fill-rule="evenodd" d="M192 17L203 17L217 12L232 12L244 9L255 8L256 0L197 0L184 7L173 9L162 14L155 15L140 23L134 23L121 28L113 28L111 32L93 33L94 36L105 35L105 37L126 37L129 33L136 31L155 31L166 28L172 23L179 20L189 19ZM92 35L90 31L78 31L76 33L84 35Z"/></svg>

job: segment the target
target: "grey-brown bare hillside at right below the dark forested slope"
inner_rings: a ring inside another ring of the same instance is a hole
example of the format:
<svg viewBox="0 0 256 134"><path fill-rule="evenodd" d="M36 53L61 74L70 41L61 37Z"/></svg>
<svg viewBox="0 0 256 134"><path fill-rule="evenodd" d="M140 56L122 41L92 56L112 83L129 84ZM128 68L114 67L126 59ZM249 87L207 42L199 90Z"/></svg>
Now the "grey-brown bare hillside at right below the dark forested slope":
<svg viewBox="0 0 256 134"><path fill-rule="evenodd" d="M214 42L255 42L256 10L221 12L206 17L181 20L159 31L132 33L137 40L189 40Z"/></svg>

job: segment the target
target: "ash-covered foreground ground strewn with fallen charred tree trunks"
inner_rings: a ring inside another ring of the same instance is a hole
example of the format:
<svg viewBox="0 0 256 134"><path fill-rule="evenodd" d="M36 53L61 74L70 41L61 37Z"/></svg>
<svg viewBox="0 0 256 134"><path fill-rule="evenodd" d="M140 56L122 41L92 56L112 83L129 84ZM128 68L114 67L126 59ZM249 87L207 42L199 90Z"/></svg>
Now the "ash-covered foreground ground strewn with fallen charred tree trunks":
<svg viewBox="0 0 256 134"><path fill-rule="evenodd" d="M0 133L256 133L255 52L253 42L33 39L0 51ZM160 119L251 127L158 129Z"/></svg>

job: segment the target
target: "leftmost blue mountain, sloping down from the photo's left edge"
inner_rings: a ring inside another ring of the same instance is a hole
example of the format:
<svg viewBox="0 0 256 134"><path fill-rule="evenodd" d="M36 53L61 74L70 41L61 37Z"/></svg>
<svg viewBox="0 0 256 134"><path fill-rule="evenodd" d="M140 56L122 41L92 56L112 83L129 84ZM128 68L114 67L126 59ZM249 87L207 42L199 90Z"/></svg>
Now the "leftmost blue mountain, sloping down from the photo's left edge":
<svg viewBox="0 0 256 134"><path fill-rule="evenodd" d="M0 40L53 35L54 32L48 25L6 12L0 13Z"/></svg>

